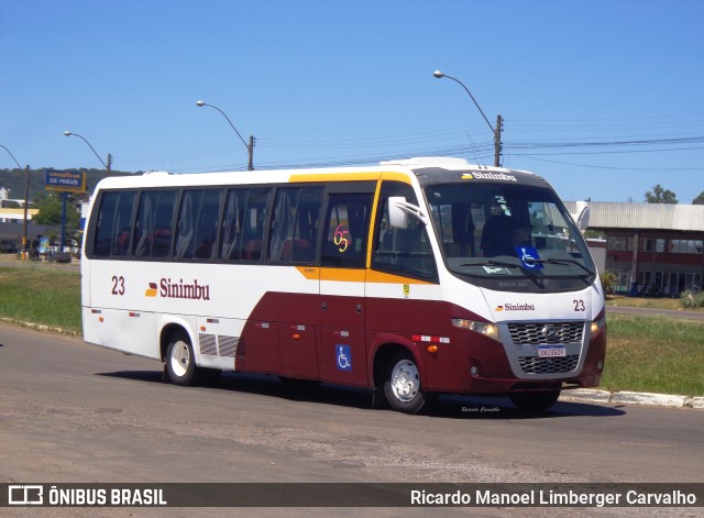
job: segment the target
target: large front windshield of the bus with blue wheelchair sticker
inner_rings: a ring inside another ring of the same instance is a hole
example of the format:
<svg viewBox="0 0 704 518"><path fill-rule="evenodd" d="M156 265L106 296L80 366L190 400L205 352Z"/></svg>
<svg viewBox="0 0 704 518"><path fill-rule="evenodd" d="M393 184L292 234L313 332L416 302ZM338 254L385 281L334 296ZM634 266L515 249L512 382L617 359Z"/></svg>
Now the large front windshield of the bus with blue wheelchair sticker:
<svg viewBox="0 0 704 518"><path fill-rule="evenodd" d="M446 264L468 282L562 290L594 280L586 243L552 189L460 183L425 191Z"/></svg>

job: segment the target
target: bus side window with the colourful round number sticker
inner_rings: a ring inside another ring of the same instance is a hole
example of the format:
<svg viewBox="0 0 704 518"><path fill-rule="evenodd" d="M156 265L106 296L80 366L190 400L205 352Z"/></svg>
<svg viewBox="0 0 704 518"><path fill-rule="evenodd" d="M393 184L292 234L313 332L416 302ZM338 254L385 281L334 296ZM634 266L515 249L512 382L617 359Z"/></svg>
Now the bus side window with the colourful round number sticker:
<svg viewBox="0 0 704 518"><path fill-rule="evenodd" d="M372 194L330 195L321 266L363 268L372 211Z"/></svg>

